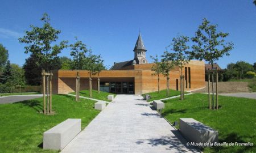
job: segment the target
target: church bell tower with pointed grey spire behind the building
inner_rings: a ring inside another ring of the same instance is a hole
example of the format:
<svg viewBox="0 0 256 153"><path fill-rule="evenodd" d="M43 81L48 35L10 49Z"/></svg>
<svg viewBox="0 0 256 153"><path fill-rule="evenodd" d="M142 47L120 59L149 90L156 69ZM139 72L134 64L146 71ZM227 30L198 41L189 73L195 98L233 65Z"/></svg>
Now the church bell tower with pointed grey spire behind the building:
<svg viewBox="0 0 256 153"><path fill-rule="evenodd" d="M144 64L147 63L146 59L146 48L144 46L141 33L139 33L137 42L135 44L135 47L133 49L134 52L134 60L136 61L136 64Z"/></svg>

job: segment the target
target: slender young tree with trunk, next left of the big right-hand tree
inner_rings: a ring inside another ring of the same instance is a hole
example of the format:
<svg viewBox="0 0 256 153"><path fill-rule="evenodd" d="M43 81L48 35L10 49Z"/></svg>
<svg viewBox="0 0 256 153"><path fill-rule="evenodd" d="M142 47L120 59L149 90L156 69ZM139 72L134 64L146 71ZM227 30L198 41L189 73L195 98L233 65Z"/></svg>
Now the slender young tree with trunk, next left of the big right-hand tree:
<svg viewBox="0 0 256 153"><path fill-rule="evenodd" d="M187 36L174 37L174 39L172 39L171 49L174 50L175 53L167 53L167 57L169 54L171 57L174 56L174 64L180 69L180 100L184 100L183 67L186 63L189 62L189 46L187 45L187 42L189 42L189 37Z"/></svg>

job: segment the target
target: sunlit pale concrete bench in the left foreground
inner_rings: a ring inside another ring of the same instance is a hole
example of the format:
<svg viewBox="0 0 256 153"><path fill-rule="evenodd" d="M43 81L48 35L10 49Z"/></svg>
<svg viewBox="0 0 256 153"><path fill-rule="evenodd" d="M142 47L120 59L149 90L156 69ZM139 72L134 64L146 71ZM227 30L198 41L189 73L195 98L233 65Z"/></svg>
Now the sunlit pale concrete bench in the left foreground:
<svg viewBox="0 0 256 153"><path fill-rule="evenodd" d="M73 138L81 131L81 119L68 118L54 126L43 135L43 148L52 150L63 150Z"/></svg>

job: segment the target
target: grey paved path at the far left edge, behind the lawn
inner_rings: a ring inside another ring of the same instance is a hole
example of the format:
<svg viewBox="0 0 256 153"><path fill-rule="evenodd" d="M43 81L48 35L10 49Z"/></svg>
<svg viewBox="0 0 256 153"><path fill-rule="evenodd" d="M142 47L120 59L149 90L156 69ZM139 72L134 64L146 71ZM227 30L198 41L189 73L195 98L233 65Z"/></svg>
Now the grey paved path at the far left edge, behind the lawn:
<svg viewBox="0 0 256 153"><path fill-rule="evenodd" d="M35 99L43 97L42 94L36 94L36 95L14 95L14 96L5 96L5 97L0 97L0 104L10 104L10 103L16 103L18 101L23 101L23 100L30 100L30 99Z"/></svg>

